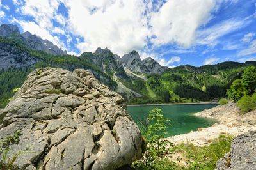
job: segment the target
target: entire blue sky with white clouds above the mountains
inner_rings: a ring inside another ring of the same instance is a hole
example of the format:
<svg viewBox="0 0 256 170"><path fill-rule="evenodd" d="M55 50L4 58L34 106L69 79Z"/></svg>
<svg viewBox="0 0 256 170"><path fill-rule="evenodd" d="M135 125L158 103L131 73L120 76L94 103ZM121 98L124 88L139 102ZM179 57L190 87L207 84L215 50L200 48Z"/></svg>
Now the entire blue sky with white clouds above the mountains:
<svg viewBox="0 0 256 170"><path fill-rule="evenodd" d="M137 50L169 68L256 60L256 0L0 0L0 24L77 56Z"/></svg>

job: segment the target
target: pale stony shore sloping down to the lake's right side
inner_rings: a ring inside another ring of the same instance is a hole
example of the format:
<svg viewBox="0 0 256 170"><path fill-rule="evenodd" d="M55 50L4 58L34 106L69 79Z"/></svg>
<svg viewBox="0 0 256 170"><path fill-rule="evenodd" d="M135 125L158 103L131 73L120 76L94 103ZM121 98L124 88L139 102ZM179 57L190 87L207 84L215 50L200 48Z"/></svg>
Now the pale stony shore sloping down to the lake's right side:
<svg viewBox="0 0 256 170"><path fill-rule="evenodd" d="M218 120L208 128L198 128L195 132L168 137L174 143L193 143L196 146L204 146L211 143L220 134L230 134L236 137L250 130L256 130L256 110L241 114L236 104L230 102L226 105L218 105L212 109L207 109L195 114L205 118Z"/></svg>

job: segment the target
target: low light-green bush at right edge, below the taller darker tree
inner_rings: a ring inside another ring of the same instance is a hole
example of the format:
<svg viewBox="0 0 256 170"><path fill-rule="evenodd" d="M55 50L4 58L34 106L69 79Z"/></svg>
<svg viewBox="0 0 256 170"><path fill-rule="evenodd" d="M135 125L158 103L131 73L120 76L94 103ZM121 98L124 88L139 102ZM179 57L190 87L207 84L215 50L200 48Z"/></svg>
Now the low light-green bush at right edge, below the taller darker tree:
<svg viewBox="0 0 256 170"><path fill-rule="evenodd" d="M243 113L252 111L253 109L256 109L256 101L255 101L256 97L255 96L256 96L255 94L252 97L250 97L248 95L244 95L237 102L237 107L239 107L239 109Z"/></svg>

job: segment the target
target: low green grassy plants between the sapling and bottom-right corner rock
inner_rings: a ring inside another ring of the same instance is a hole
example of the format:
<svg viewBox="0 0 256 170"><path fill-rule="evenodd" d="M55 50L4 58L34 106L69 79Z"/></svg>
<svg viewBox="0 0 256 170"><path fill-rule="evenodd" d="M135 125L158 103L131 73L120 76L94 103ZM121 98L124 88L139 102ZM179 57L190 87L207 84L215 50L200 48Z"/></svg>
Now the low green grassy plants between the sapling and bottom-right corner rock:
<svg viewBox="0 0 256 170"><path fill-rule="evenodd" d="M220 135L210 145L195 146L193 144L178 144L173 148L176 153L182 153L186 157L189 167L182 169L215 169L216 162L230 151L233 137Z"/></svg>

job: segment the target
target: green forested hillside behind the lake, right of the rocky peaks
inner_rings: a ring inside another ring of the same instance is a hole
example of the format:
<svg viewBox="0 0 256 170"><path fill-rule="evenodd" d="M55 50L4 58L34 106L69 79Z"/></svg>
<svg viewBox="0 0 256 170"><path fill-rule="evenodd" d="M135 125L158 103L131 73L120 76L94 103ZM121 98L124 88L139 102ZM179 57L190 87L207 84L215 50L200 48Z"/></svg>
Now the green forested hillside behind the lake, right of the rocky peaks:
<svg viewBox="0 0 256 170"><path fill-rule="evenodd" d="M225 97L230 84L252 65L256 62L224 62L201 67L184 65L161 75L148 75L143 86L150 88L156 96L152 98L148 93L147 97L136 98L132 102L197 102Z"/></svg>

